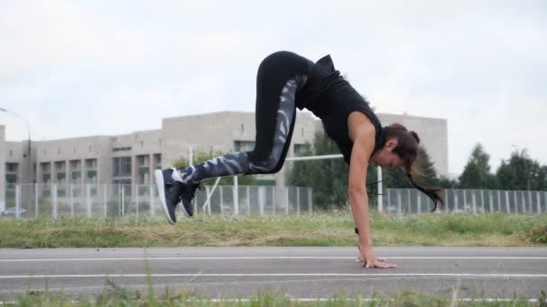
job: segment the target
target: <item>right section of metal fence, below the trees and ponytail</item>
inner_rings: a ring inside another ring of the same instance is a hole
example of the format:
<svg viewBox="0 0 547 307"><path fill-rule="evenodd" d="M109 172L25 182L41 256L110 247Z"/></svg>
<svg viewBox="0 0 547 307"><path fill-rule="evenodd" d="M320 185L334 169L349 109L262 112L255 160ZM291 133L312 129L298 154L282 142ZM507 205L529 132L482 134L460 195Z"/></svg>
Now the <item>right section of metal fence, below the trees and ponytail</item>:
<svg viewBox="0 0 547 307"><path fill-rule="evenodd" d="M417 189L386 189L382 197L383 211L420 214L433 208L433 202ZM547 191L515 191L494 189L446 189L441 211L453 214L547 213Z"/></svg>

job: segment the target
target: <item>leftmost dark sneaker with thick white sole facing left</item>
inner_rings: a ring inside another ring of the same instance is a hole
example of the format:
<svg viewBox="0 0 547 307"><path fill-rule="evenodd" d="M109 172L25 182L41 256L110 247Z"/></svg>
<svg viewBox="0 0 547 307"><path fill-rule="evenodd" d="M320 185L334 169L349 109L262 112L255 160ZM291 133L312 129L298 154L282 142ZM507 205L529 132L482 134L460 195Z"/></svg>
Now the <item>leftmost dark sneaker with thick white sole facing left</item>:
<svg viewBox="0 0 547 307"><path fill-rule="evenodd" d="M172 169L154 171L157 194L159 195L161 205L164 207L167 222L175 224L175 207L181 200L184 185L182 182L174 180L173 177L171 177L172 174Z"/></svg>

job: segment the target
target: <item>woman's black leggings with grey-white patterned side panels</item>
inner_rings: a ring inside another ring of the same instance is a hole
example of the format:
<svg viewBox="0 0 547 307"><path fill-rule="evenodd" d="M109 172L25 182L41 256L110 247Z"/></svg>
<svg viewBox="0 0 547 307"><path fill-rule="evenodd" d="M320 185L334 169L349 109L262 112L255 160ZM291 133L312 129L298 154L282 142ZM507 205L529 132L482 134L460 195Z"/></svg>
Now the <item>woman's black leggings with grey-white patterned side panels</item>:
<svg viewBox="0 0 547 307"><path fill-rule="evenodd" d="M281 170L291 145L296 95L306 83L312 66L307 58L288 51L266 57L256 76L255 149L224 154L178 169L174 174L175 180L198 182L211 177Z"/></svg>

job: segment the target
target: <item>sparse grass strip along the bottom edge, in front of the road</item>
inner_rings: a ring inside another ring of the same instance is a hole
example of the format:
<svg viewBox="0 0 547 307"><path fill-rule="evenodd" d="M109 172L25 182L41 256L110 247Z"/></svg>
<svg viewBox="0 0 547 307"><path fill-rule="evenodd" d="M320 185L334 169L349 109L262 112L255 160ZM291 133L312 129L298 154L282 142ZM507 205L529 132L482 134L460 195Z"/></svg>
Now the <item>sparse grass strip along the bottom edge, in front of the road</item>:
<svg viewBox="0 0 547 307"><path fill-rule="evenodd" d="M533 301L522 296L511 298L471 297L471 301L457 296L457 291L448 294L420 294L408 290L393 295L375 292L371 298L363 294L346 295L343 292L326 299L294 300L290 295L259 292L247 298L222 299L199 296L184 289L176 291L169 288L163 294L154 293L151 280L148 280L148 293L129 290L107 281L99 294L83 294L76 299L63 293L27 292L15 296L13 304L19 306L545 306L544 291Z"/></svg>

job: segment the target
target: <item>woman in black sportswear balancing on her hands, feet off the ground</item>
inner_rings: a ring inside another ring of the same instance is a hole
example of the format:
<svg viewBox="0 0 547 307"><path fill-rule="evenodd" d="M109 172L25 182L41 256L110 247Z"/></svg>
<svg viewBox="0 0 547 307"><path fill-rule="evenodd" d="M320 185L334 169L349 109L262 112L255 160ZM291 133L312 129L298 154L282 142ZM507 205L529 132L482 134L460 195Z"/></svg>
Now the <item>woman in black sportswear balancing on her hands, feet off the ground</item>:
<svg viewBox="0 0 547 307"><path fill-rule="evenodd" d="M414 187L426 193L435 207L441 202L440 190L420 187L414 180L417 134L399 124L381 127L368 103L336 71L330 56L314 64L305 57L280 51L263 60L256 78L255 149L224 154L187 168L155 171L167 221L175 224L175 206L180 200L184 215L193 215L192 199L196 189L201 188L201 180L279 171L291 143L296 108L306 108L321 118L327 135L349 164L348 191L355 232L359 234L359 259L366 268L396 268L374 257L365 189L368 163L383 169L403 168Z"/></svg>

